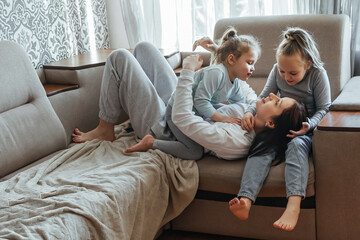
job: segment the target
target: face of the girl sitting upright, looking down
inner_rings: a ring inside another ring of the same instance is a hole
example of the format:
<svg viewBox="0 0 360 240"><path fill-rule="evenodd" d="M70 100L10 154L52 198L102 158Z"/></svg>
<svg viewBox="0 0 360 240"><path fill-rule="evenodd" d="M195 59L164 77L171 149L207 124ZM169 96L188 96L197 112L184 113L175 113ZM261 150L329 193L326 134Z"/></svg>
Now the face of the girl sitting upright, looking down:
<svg viewBox="0 0 360 240"><path fill-rule="evenodd" d="M291 56L278 56L279 74L290 86L301 82L304 78L306 70L310 67L311 61L308 61L307 63L304 62L299 53Z"/></svg>

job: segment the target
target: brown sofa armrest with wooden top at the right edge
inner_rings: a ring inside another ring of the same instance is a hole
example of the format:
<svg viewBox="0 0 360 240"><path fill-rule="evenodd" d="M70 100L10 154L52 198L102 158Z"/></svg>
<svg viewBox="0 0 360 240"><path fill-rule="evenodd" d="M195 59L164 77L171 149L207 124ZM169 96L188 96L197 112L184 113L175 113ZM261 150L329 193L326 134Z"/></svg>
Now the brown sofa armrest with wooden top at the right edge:
<svg viewBox="0 0 360 240"><path fill-rule="evenodd" d="M330 111L314 131L318 239L360 236L359 142L360 111Z"/></svg>

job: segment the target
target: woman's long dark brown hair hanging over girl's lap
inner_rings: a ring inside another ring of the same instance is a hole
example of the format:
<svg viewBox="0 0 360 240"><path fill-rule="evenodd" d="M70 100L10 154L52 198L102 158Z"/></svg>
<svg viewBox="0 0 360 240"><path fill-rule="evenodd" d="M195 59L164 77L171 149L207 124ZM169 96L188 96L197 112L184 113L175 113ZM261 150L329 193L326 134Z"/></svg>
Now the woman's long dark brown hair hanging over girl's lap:
<svg viewBox="0 0 360 240"><path fill-rule="evenodd" d="M283 161L287 144L292 139L286 135L290 130L300 130L307 115L306 106L301 101L296 100L295 104L274 118L274 129L267 128L256 134L249 149L249 157L275 152L276 156L280 156L281 161Z"/></svg>

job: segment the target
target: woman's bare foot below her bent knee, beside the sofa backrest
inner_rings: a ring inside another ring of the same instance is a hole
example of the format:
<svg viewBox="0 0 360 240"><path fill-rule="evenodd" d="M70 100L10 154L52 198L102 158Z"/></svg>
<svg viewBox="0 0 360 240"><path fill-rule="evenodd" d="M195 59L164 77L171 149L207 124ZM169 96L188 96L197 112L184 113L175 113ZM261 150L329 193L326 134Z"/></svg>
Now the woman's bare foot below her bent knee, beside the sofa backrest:
<svg viewBox="0 0 360 240"><path fill-rule="evenodd" d="M106 141L115 141L115 132L114 132L114 124L104 122L100 120L99 125L89 131L89 132L81 132L78 128L75 128L74 133L71 134L73 142L82 143L86 141L90 141L93 139L100 139Z"/></svg>

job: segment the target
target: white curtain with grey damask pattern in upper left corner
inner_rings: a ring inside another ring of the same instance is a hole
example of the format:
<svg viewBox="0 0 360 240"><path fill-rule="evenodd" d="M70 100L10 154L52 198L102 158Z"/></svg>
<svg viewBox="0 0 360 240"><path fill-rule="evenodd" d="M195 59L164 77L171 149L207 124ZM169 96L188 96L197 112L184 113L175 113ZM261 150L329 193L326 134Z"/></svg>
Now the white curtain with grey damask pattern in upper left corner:
<svg viewBox="0 0 360 240"><path fill-rule="evenodd" d="M109 48L105 1L0 0L0 40L22 45L36 69Z"/></svg>

